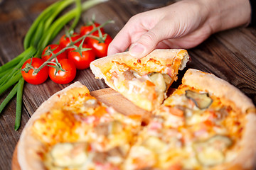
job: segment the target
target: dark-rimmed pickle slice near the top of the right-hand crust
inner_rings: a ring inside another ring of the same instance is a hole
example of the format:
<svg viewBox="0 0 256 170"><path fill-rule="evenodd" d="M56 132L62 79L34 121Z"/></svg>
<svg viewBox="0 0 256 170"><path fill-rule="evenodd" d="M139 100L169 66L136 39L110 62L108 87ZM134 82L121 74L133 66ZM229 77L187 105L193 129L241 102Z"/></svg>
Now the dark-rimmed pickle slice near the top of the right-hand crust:
<svg viewBox="0 0 256 170"><path fill-rule="evenodd" d="M213 103L213 99L209 97L208 93L199 94L195 91L187 90L186 97L191 99L200 109L208 108Z"/></svg>

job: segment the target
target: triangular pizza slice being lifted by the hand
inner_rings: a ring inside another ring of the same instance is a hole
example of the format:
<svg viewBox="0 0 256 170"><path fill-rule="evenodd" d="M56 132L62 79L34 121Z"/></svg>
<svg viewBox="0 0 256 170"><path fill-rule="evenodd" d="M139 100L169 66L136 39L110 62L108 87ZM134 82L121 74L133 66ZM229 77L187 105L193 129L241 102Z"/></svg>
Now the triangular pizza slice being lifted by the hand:
<svg viewBox="0 0 256 170"><path fill-rule="evenodd" d="M135 105L152 111L188 62L186 50L154 50L142 59L122 52L91 62L92 73Z"/></svg>

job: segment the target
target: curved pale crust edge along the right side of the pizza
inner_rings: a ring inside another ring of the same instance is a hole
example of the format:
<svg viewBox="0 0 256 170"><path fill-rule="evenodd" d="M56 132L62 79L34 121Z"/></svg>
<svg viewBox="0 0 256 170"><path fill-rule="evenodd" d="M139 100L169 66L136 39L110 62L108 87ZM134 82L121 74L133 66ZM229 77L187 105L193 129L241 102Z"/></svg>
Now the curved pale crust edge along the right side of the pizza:
<svg viewBox="0 0 256 170"><path fill-rule="evenodd" d="M215 77L213 74L201 72L197 69L188 69L185 73L182 84L208 91L210 94L220 98L227 98L235 103L238 109L241 109L246 115L247 123L245 125L242 141L240 142L240 152L230 164L223 165L221 169L252 169L256 166L256 110L255 106L245 94L229 84L227 81ZM218 167L217 169L220 169Z"/></svg>

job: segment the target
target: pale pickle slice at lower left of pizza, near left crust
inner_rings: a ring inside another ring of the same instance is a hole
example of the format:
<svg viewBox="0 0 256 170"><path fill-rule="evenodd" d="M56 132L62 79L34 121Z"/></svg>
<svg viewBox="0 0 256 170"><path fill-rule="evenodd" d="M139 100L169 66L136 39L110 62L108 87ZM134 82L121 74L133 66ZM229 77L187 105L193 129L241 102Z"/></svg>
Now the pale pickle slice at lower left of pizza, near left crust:
<svg viewBox="0 0 256 170"><path fill-rule="evenodd" d="M61 168L82 166L87 160L86 143L58 143L53 146L50 155L53 165Z"/></svg>

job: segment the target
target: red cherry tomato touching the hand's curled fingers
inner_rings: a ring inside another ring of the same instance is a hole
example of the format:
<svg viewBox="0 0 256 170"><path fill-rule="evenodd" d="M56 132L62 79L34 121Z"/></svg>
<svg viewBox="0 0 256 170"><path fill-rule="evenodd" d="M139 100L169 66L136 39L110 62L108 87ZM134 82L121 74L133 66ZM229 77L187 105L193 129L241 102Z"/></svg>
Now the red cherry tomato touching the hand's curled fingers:
<svg viewBox="0 0 256 170"><path fill-rule="evenodd" d="M112 38L110 35L107 35L105 42L99 43L98 40L89 38L87 43L92 47L92 50L94 50L96 57L105 57L107 56L107 48L110 45L110 42L112 42Z"/></svg>

